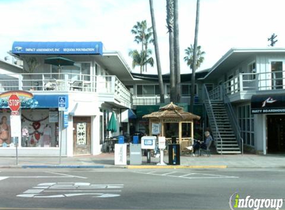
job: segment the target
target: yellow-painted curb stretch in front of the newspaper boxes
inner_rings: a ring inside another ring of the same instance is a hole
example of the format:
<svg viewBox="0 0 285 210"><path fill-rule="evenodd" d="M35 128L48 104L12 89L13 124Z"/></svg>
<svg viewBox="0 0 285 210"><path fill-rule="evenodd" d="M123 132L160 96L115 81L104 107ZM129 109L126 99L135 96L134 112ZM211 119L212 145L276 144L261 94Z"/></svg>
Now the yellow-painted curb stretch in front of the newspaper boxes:
<svg viewBox="0 0 285 210"><path fill-rule="evenodd" d="M227 168L226 165L208 165L208 166L181 166L181 165L171 165L171 166L126 166L127 169L188 169L188 168Z"/></svg>

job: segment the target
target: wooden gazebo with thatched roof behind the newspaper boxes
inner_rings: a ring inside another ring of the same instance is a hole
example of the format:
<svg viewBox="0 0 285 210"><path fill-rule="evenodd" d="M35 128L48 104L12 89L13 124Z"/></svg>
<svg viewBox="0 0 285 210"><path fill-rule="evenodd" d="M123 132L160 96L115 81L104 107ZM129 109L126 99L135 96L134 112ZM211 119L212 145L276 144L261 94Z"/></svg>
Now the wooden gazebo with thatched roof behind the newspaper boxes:
<svg viewBox="0 0 285 210"><path fill-rule="evenodd" d="M200 116L184 111L183 107L173 104L172 102L159 109L159 111L146 114L143 118L149 118L149 131L152 132L153 123L161 123L161 136L166 136L165 123L179 123L179 143L181 151L193 144L193 120L199 120ZM190 123L190 134L187 138L182 138L182 123ZM169 139L168 139L169 140Z"/></svg>

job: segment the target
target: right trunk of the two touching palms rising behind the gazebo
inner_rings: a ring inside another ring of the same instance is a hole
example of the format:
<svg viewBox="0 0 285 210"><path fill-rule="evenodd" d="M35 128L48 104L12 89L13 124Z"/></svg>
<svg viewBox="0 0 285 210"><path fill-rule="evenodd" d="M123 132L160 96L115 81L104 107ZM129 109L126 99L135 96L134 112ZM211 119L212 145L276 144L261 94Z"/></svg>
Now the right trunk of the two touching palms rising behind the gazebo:
<svg viewBox="0 0 285 210"><path fill-rule="evenodd" d="M180 46L179 46L179 23L178 23L178 0L174 0L174 63L176 74L176 97L180 103L181 78L180 78Z"/></svg>

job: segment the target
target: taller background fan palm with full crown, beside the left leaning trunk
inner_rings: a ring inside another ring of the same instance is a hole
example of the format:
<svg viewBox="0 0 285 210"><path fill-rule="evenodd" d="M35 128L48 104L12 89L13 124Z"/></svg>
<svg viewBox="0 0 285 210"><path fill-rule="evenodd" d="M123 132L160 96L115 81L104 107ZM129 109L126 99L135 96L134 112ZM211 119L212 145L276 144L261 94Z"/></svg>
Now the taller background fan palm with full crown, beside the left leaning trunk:
<svg viewBox="0 0 285 210"><path fill-rule="evenodd" d="M132 34L135 34L134 41L138 44L141 43L141 54L148 52L148 44L153 42L152 27L148 28L146 20L143 20L141 22L137 22L137 24L133 26L131 32ZM148 53L146 53L146 55L148 55ZM145 63L145 65L142 66L141 73L143 71L147 71L147 59L143 63Z"/></svg>

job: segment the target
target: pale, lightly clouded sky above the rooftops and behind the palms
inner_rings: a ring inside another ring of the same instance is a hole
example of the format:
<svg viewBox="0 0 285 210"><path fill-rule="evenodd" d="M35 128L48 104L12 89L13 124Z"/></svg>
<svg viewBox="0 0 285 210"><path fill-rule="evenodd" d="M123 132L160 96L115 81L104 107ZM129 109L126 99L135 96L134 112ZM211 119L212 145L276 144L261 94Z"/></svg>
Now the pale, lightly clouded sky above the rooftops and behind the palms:
<svg viewBox="0 0 285 210"><path fill-rule="evenodd" d="M169 73L166 0L153 0L163 74ZM196 0L178 0L181 73L190 73L185 49L194 42ZM198 45L205 52L199 70L211 68L228 50L267 47L273 33L285 47L285 0L200 0ZM149 0L0 0L0 59L14 41L101 41L119 51L132 72L130 50L140 50L132 27L147 20ZM153 57L155 58L154 47ZM157 74L148 67L148 74Z"/></svg>

